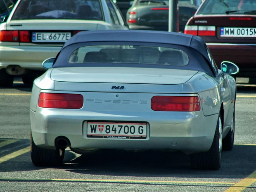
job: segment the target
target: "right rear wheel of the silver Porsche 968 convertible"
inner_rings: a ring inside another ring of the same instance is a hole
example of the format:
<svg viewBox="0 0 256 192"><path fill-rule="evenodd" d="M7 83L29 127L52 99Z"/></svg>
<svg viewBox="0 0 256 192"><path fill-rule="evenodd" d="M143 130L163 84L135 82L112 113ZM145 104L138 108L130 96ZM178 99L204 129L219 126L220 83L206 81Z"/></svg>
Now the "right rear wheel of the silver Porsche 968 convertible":
<svg viewBox="0 0 256 192"><path fill-rule="evenodd" d="M220 157L222 152L222 122L220 114L216 125L213 143L208 152L191 154L191 165L197 169L217 170L220 168Z"/></svg>

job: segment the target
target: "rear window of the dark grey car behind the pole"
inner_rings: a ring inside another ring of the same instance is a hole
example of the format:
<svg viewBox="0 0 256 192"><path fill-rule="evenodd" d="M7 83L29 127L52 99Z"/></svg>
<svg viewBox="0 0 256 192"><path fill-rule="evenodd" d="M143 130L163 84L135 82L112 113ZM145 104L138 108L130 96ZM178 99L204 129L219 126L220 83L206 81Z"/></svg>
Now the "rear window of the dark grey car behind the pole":
<svg viewBox="0 0 256 192"><path fill-rule="evenodd" d="M169 0L138 0L137 5L152 5L152 4L161 4L169 5ZM179 6L199 6L200 0L179 0Z"/></svg>

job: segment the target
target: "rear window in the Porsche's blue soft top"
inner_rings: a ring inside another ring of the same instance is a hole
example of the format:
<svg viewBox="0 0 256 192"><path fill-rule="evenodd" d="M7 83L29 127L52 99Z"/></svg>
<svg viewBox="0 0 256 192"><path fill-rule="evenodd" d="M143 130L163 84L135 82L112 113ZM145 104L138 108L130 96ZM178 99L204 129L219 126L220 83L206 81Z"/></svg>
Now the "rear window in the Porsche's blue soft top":
<svg viewBox="0 0 256 192"><path fill-rule="evenodd" d="M70 63L134 63L185 66L188 56L183 50L140 45L93 45L76 49Z"/></svg>

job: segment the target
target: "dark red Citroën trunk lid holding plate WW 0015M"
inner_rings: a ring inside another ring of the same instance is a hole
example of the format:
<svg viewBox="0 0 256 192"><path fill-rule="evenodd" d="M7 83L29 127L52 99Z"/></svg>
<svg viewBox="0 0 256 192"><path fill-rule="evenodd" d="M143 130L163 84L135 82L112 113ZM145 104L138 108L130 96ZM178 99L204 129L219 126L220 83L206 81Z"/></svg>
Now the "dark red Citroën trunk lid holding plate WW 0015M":
<svg viewBox="0 0 256 192"><path fill-rule="evenodd" d="M196 15L187 25L197 26L206 43L256 43L255 23L255 15L230 14Z"/></svg>

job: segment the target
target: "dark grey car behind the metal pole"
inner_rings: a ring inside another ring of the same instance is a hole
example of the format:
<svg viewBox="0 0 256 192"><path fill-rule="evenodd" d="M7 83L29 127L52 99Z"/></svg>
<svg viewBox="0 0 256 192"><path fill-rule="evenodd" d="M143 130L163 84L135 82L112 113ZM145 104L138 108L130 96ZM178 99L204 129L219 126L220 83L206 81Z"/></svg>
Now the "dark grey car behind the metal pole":
<svg viewBox="0 0 256 192"><path fill-rule="evenodd" d="M178 31L184 31L200 4L201 0L178 0ZM168 14L168 0L135 0L126 13L126 21L130 29L168 31Z"/></svg>

